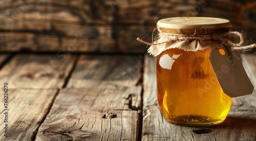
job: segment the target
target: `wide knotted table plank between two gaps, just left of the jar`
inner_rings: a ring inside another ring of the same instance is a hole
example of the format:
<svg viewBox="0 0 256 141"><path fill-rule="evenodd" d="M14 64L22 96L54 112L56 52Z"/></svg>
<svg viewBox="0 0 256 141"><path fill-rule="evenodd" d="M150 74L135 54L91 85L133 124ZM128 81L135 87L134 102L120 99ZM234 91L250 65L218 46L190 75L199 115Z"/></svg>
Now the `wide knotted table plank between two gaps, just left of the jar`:
<svg viewBox="0 0 256 141"><path fill-rule="evenodd" d="M36 140L137 140L142 65L138 56L81 55Z"/></svg>

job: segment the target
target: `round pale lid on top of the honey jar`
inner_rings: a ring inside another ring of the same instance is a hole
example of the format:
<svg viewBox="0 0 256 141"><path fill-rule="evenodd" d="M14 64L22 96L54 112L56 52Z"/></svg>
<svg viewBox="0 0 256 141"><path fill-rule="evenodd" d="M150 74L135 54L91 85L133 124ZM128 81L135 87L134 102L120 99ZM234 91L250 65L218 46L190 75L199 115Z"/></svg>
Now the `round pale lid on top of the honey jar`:
<svg viewBox="0 0 256 141"><path fill-rule="evenodd" d="M227 19L211 17L175 17L157 22L158 30L172 34L219 34L231 30L232 24Z"/></svg>

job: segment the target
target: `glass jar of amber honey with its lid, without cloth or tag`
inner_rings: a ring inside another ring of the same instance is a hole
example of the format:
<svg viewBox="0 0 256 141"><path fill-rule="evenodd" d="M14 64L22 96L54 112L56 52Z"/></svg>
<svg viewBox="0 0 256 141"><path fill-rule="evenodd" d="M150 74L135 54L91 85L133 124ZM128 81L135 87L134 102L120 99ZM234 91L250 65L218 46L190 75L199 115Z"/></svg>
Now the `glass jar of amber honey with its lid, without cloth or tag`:
<svg viewBox="0 0 256 141"><path fill-rule="evenodd" d="M158 21L157 25L158 30L173 34L216 34L230 30L228 20L216 19L191 17L187 22L177 22L177 18L169 18ZM208 48L197 51L172 48L157 56L157 97L168 122L207 126L221 123L227 117L232 98L218 82L209 60L210 52Z"/></svg>

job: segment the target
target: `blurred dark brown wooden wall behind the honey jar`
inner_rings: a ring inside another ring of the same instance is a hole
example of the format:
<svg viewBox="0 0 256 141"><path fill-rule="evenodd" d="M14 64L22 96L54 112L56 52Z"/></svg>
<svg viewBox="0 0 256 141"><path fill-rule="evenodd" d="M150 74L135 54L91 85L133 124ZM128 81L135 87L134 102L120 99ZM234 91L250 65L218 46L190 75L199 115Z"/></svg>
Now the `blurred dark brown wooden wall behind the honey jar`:
<svg viewBox="0 0 256 141"><path fill-rule="evenodd" d="M252 0L9 0L0 11L1 52L144 53L135 39L151 41L156 21L178 16L226 18L256 41Z"/></svg>

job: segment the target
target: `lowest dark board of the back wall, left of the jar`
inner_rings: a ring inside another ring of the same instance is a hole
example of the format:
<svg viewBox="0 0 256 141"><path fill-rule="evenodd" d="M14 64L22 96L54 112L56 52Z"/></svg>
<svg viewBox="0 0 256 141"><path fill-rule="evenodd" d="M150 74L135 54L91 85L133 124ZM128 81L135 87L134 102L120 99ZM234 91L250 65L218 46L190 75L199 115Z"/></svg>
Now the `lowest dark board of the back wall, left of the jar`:
<svg viewBox="0 0 256 141"><path fill-rule="evenodd" d="M152 29L154 29L153 27ZM150 34L153 30L136 26L131 31L125 27L110 29L104 27L100 31L78 32L77 37L47 35L39 33L0 33L0 52L32 51L32 52L129 52L144 53L146 45L136 40L142 33ZM144 30L143 30L144 29ZM135 32L136 31L136 32ZM81 36L80 36L81 35ZM113 36L115 35L115 36ZM81 38L80 38L81 37ZM143 36L142 36L143 37ZM151 42L147 36L146 41Z"/></svg>

